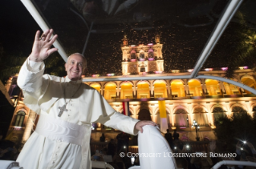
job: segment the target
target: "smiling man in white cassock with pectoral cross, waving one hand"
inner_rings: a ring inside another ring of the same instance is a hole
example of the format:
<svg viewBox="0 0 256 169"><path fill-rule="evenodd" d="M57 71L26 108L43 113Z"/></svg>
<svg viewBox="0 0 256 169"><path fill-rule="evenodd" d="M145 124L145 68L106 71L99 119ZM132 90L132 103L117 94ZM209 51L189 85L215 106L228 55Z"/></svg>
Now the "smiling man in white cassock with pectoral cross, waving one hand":
<svg viewBox="0 0 256 169"><path fill-rule="evenodd" d="M98 91L84 84L81 75L87 62L82 54L67 59L66 78L43 74L43 60L58 50L51 48L57 38L51 38L52 32L45 31L41 38L40 31L36 32L32 52L18 75L24 103L40 118L17 161L24 169L90 169L91 123L131 135L156 123L116 112Z"/></svg>

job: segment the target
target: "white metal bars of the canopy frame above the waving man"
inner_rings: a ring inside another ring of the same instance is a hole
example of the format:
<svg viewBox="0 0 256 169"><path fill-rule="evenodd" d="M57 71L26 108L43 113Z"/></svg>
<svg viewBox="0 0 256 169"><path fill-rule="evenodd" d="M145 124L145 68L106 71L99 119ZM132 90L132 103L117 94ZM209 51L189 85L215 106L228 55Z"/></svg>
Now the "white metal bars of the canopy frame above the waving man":
<svg viewBox="0 0 256 169"><path fill-rule="evenodd" d="M35 8L34 4L30 0L21 0L26 9L30 12L35 21L39 24L43 31L48 30L49 27L47 23L43 20L43 17L39 14L38 10ZM120 77L120 78L83 78L83 82L107 82L107 81L132 81L132 80L156 80L156 79L179 79L179 78L209 78L216 79L222 82L229 82L230 84L234 84L235 86L242 87L246 91L250 91L254 95L256 95L256 90L248 87L240 82L235 82L234 80L230 80L227 78L221 78L217 76L210 75L197 75L201 67L205 63L206 59L209 57L209 54L213 50L216 45L218 39L221 37L221 34L226 29L226 26L230 23L234 14L238 10L239 6L242 4L243 0L230 0L228 6L226 6L226 10L222 14L217 26L213 30L213 33L209 37L208 42L205 44L204 49L202 50L200 57L197 59L197 63L193 67L193 72L189 75L179 75L179 76L131 76L131 77ZM92 23L91 23L92 24ZM91 29L91 28L90 28ZM63 47L60 45L58 40L53 44L56 48L58 48L58 52L61 57L67 62L67 54L63 50ZM85 50L85 49L83 49Z"/></svg>

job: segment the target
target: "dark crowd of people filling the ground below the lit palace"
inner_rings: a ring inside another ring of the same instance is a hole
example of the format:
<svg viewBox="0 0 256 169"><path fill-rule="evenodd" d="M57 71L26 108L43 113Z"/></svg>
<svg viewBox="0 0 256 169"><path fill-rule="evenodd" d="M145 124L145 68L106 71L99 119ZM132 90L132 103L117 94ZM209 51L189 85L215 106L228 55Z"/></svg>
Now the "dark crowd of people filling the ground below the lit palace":
<svg viewBox="0 0 256 169"><path fill-rule="evenodd" d="M104 147L102 150L96 150L95 154L91 155L92 161L106 161L112 165L112 167L117 169L124 169L132 167L132 165L140 165L139 158L135 159L135 163L127 156L124 158L120 157L120 152L125 154L128 152L130 135L120 132L116 135L116 139L110 139L108 146ZM173 134L167 130L165 134L165 139L169 143L173 153L203 153L204 156L201 157L185 157L176 158L177 167L188 168L188 169L209 169L213 167L216 163L221 160L238 160L238 161L250 161L256 162L256 150L254 145L250 142L239 140L234 152L226 150L226 143L211 141L208 144L207 150L197 152L193 150L193 146L188 147L188 144L179 140L179 134L174 131ZM104 133L100 137L100 142L105 142L106 136ZM21 145L16 145L8 140L1 140L0 143L0 159L2 160L16 160L19 152L21 151ZM205 153L207 155L205 155ZM210 153L235 153L235 158L226 157L213 157ZM222 165L221 169L249 169L255 167L246 166L234 166L234 165Z"/></svg>

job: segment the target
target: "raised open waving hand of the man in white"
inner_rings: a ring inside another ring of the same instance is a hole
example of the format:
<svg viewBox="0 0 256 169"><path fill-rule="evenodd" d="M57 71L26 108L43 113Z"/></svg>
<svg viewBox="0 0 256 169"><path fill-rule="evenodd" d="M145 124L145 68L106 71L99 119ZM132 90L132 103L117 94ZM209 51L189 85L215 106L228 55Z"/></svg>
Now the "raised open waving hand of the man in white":
<svg viewBox="0 0 256 169"><path fill-rule="evenodd" d="M34 62L43 62L46 58L50 56L50 54L57 51L57 48L51 48L52 44L55 42L58 35L55 34L51 38L51 34L53 30L46 30L41 38L40 31L38 30L35 34L35 41L33 44L32 52L30 54L30 60Z"/></svg>

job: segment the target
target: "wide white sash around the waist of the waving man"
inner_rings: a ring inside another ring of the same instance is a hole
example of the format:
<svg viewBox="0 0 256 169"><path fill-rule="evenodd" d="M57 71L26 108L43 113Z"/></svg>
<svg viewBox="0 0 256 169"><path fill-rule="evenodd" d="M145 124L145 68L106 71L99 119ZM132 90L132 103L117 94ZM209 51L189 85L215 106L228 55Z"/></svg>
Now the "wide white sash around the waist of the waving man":
<svg viewBox="0 0 256 169"><path fill-rule="evenodd" d="M49 139L82 146L86 127L41 114L35 132Z"/></svg>

